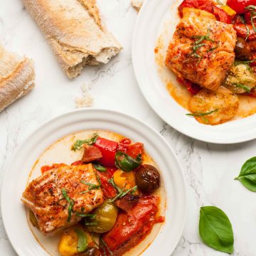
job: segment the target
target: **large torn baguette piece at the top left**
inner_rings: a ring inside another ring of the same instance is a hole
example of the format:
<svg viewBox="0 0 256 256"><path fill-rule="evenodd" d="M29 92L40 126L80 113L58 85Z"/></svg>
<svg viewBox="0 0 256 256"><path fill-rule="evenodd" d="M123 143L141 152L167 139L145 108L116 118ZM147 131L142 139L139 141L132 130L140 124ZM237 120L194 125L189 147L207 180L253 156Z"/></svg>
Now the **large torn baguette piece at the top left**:
<svg viewBox="0 0 256 256"><path fill-rule="evenodd" d="M23 0L68 78L107 63L122 46L102 25L95 0Z"/></svg>

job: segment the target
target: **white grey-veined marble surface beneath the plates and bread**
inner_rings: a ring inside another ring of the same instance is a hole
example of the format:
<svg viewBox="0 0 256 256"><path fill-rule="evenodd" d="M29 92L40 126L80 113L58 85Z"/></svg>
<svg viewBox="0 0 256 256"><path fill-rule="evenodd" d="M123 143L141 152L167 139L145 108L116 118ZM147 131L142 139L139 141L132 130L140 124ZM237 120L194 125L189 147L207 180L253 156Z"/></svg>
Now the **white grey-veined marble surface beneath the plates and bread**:
<svg viewBox="0 0 256 256"><path fill-rule="evenodd" d="M73 110L75 99L80 97L81 86L85 84L94 98L93 107L139 117L161 132L176 151L188 187L188 219L174 256L225 255L203 245L198 236L199 209L206 205L222 208L233 223L233 255L256 255L256 194L234 181L242 163L255 156L256 142L233 146L197 142L159 119L144 100L132 70L132 31L137 12L130 6L130 0L99 0L99 4L108 28L124 50L107 65L86 68L80 77L70 81L60 70L46 39L23 8L22 1L0 1L0 43L9 50L28 55L36 63L35 89L0 113L0 184L17 146L46 120ZM15 177L14 182L18 182ZM1 217L0 255L16 255L6 237Z"/></svg>

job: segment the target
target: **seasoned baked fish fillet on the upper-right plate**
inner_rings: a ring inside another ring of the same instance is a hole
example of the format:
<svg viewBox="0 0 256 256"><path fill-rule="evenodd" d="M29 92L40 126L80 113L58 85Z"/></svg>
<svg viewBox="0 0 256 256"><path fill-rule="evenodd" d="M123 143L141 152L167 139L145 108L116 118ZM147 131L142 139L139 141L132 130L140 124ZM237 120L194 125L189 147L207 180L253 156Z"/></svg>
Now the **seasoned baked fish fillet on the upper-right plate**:
<svg viewBox="0 0 256 256"><path fill-rule="evenodd" d="M235 60L235 42L233 25L216 21L207 11L183 8L166 66L179 78L217 90Z"/></svg>

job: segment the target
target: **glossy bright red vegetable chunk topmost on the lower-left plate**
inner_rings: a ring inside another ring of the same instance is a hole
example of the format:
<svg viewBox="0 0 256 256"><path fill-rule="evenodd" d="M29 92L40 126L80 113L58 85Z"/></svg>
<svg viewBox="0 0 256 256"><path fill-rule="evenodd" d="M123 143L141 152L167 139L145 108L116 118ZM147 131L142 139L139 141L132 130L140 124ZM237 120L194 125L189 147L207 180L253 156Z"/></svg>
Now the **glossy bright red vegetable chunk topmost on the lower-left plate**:
<svg viewBox="0 0 256 256"><path fill-rule="evenodd" d="M94 146L97 146L97 148L102 152L100 164L103 164L104 166L114 166L114 156L117 151L118 143L98 137Z"/></svg>

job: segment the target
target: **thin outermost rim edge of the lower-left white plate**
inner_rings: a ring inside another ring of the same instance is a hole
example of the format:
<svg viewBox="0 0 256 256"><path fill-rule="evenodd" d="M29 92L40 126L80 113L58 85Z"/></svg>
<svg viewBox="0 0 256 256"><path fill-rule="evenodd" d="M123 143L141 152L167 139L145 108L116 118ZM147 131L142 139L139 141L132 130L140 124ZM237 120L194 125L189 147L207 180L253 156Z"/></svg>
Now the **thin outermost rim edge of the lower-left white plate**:
<svg viewBox="0 0 256 256"><path fill-rule="evenodd" d="M93 111L98 111L98 112L105 112L108 114L120 114L128 119L134 119L134 121L136 122L140 122L141 124L143 124L147 129L150 129L151 132L154 132L155 134L158 134L159 138L161 137L161 141L166 144L166 146L169 148L169 150L172 152L174 159L176 160L176 164L179 167L179 174L180 174L180 178L182 181L182 186L183 186L183 208L185 209L185 213L183 215L183 220L181 223L181 229L179 230L179 234L177 235L176 238L176 242L175 243L175 247L174 250L176 248L176 246L178 245L178 241L181 239L181 236L183 234L183 230L185 228L186 225L186 220L187 220L187 215L188 215L188 191L187 191L187 186L186 186L186 179L185 179L185 175L183 172L183 166L181 166L180 161L178 160L178 156L176 155L174 149L171 147L171 145L169 144L169 142L167 142L167 140L161 135L159 134L159 132L154 129L154 127L151 127L149 124L147 124L146 122L142 121L141 119L137 118L137 117L133 117L132 115L129 114L125 114L123 112L119 112L116 110L106 110L106 109L102 109L102 108L97 108L97 107L90 107L90 108L84 108L84 109L79 109L79 110L71 110L69 112L65 112L63 114L58 114L55 115L54 117L51 117L50 119L46 120L46 122L43 122L43 124L39 125L37 128L33 129L32 132L30 132L19 144L19 146L16 148L16 150L14 151L14 155L11 157L11 159L9 159L8 164L6 164L6 168L5 168L5 173L3 176L3 182L2 182L2 188L1 188L1 216L2 216L2 221L3 221L3 225L4 225L4 230L6 232L7 238L9 240L9 242L11 243L12 248L14 249L14 251L17 253L17 255L21 255L18 254L18 250L16 249L16 242L14 241L14 239L12 238L12 235L9 233L9 229L6 227L6 218L7 218L7 210L4 210L5 207L4 203L6 203L6 199L4 197L4 188L6 187L6 176L8 176L8 171L11 169L11 163L12 161L14 161L16 154L18 154L18 151L22 148L22 146L24 144L26 144L26 142L37 132L39 132L41 129L43 129L44 127L47 127L51 122L54 122L56 119L59 118L63 118L63 117L68 117L68 115L70 114L74 114L77 112L93 112ZM62 124L65 125L65 124ZM168 195L167 195L168 196ZM156 236L157 237L157 236ZM173 253L174 250L171 252ZM25 255L22 255L25 256Z"/></svg>

